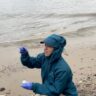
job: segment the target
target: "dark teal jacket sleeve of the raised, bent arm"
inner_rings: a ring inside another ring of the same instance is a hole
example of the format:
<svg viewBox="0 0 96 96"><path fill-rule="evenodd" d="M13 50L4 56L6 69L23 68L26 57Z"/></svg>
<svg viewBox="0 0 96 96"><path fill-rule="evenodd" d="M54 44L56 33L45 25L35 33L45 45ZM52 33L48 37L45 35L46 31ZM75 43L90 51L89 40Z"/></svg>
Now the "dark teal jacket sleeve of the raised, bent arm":
<svg viewBox="0 0 96 96"><path fill-rule="evenodd" d="M21 63L28 68L41 68L43 53L37 55L37 57L30 57L29 54L21 55Z"/></svg>

